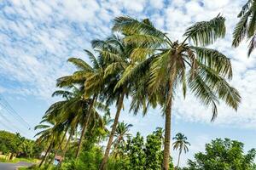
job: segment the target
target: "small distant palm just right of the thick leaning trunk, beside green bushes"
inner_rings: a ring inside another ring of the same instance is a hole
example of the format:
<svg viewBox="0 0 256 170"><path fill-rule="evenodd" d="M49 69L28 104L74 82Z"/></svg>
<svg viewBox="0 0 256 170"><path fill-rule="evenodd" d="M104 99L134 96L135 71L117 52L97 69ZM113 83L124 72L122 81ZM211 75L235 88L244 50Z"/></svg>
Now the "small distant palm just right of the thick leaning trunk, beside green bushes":
<svg viewBox="0 0 256 170"><path fill-rule="evenodd" d="M127 124L125 122L118 123L114 133L116 139L113 141L113 157L119 156L118 149L125 146L125 138L131 137L131 133L129 133L130 127L132 127L132 124Z"/></svg>

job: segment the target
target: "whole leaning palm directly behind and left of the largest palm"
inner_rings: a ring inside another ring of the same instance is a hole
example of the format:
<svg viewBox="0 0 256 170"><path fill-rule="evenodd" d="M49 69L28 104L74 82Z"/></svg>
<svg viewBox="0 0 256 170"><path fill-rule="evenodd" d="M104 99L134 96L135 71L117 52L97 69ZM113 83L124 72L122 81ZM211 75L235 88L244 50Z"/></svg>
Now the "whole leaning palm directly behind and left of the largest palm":
<svg viewBox="0 0 256 170"><path fill-rule="evenodd" d="M100 169L106 168L108 155L113 144L114 133L119 122L120 111L123 108L125 96L127 97L131 91L132 82L118 84L120 77L125 74L127 68L132 68L134 60L130 59L131 45L125 45L123 39L119 36L112 35L105 41L95 40L92 42L93 48L99 52L102 59L106 63L104 77L106 78L106 86L102 91L102 95L107 100L107 104L116 102L116 113L113 120L111 132L109 134L108 144L102 159Z"/></svg>

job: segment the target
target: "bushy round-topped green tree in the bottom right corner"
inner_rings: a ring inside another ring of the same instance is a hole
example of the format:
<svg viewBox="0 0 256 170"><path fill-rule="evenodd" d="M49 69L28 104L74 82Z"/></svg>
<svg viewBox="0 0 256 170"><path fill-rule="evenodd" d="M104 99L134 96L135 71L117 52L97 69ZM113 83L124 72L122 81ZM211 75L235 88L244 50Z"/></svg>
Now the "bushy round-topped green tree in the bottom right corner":
<svg viewBox="0 0 256 170"><path fill-rule="evenodd" d="M206 144L206 152L195 154L195 161L189 160L185 170L250 170L255 167L253 160L256 150L243 153L243 144L236 140L215 139Z"/></svg>

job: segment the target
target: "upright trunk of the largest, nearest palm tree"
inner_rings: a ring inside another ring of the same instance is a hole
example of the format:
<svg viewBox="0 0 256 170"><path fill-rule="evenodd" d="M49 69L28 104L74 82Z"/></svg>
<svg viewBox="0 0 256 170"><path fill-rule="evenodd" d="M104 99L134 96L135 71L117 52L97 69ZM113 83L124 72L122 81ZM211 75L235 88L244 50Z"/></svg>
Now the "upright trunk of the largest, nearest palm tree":
<svg viewBox="0 0 256 170"><path fill-rule="evenodd" d="M172 122L172 88L173 82L176 77L176 70L174 69L169 80L169 92L166 102L166 127L165 127L165 148L164 148L164 161L163 170L169 169L170 160L170 145L171 145L171 122Z"/></svg>

